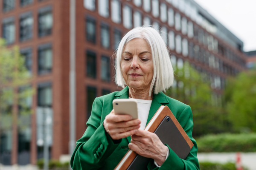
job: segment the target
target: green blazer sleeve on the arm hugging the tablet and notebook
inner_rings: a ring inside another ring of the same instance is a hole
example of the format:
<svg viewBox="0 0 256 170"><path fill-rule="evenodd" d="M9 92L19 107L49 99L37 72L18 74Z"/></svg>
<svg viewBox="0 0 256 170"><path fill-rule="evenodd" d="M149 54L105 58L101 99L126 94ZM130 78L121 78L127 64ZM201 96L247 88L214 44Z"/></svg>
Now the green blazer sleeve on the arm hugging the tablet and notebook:
<svg viewBox="0 0 256 170"><path fill-rule="evenodd" d="M187 105L184 108L184 110L180 113L180 116L178 116L177 120L194 144L194 146L190 150L189 155L186 157L186 159L181 159L167 145L169 147L170 154L166 161L162 164L161 167L155 167L154 161L150 161L150 163L148 164L148 170L199 170L200 167L197 158L197 144L195 142L195 139L192 138L193 120L190 106Z"/></svg>

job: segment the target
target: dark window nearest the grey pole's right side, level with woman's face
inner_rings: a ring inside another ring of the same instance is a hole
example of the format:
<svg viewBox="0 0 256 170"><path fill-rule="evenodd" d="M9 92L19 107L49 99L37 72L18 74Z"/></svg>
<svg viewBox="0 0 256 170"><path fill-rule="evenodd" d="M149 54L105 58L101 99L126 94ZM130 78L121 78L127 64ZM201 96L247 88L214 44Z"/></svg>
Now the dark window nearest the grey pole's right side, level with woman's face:
<svg viewBox="0 0 256 170"><path fill-rule="evenodd" d="M96 78L96 54L87 51L87 77Z"/></svg>

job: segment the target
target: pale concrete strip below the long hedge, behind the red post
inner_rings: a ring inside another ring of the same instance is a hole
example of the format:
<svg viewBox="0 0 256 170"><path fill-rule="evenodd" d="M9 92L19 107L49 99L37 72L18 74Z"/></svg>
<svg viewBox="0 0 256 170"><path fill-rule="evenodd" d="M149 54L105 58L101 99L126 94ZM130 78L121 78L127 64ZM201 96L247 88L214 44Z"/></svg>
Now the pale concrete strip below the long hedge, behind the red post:
<svg viewBox="0 0 256 170"><path fill-rule="evenodd" d="M236 162L236 153L198 153L198 161ZM242 165L249 170L256 170L256 153L241 153Z"/></svg>

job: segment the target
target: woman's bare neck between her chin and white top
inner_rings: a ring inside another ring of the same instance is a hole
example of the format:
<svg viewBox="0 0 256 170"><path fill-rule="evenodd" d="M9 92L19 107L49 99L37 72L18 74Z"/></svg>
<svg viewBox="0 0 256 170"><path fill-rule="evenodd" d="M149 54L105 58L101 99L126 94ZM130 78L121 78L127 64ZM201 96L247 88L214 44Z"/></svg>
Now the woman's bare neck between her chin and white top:
<svg viewBox="0 0 256 170"><path fill-rule="evenodd" d="M129 97L134 99L142 99L142 100L152 100L153 96L149 96L149 89L137 89L137 88L129 88Z"/></svg>

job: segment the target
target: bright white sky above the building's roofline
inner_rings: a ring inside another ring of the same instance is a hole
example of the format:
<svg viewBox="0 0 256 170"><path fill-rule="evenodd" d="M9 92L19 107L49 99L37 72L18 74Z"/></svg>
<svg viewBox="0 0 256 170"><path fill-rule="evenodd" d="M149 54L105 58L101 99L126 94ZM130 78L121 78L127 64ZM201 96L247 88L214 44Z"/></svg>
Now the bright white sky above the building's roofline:
<svg viewBox="0 0 256 170"><path fill-rule="evenodd" d="M194 0L244 42L244 51L256 50L256 0Z"/></svg>

